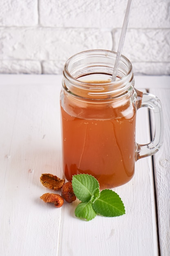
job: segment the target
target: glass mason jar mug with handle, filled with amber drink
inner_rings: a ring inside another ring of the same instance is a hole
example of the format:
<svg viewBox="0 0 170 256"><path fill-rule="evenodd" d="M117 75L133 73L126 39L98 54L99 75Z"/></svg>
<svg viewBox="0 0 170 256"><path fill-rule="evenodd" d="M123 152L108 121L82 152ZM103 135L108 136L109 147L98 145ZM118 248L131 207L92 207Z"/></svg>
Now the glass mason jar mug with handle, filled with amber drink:
<svg viewBox="0 0 170 256"><path fill-rule="evenodd" d="M134 175L135 161L153 155L163 138L161 103L134 88L130 61L121 56L112 82L116 53L81 52L68 59L60 94L62 157L68 181L79 173L93 175L100 188L113 188ZM135 141L137 109L147 107L155 117L154 139Z"/></svg>

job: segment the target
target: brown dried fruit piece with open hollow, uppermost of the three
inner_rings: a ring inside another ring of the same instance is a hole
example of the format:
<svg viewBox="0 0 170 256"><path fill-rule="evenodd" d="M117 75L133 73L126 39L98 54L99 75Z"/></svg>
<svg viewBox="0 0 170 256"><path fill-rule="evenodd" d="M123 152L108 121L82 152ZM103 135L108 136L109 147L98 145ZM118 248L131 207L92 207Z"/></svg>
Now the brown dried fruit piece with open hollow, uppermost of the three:
<svg viewBox="0 0 170 256"><path fill-rule="evenodd" d="M43 186L48 189L59 190L64 184L64 180L58 178L57 176L49 173L44 173L40 177L40 181Z"/></svg>

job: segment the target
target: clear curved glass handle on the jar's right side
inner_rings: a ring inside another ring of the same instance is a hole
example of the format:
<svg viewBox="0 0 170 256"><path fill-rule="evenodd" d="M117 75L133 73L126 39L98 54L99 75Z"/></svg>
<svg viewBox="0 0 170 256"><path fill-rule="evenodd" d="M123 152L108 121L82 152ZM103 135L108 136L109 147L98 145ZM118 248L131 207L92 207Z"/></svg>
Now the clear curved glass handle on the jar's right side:
<svg viewBox="0 0 170 256"><path fill-rule="evenodd" d="M136 90L136 89L135 89ZM155 135L152 141L148 144L138 144L137 143L137 154L136 160L154 155L163 143L163 113L160 100L153 94L144 93L136 90L138 96L138 106L139 108L149 108L154 113L155 117Z"/></svg>

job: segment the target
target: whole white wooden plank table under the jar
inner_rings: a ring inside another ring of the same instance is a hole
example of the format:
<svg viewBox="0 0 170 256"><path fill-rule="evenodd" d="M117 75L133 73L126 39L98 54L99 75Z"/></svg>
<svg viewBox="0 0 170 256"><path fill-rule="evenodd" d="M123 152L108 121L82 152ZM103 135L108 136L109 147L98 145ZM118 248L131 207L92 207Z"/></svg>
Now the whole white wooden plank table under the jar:
<svg viewBox="0 0 170 256"><path fill-rule="evenodd" d="M57 209L40 196L42 173L63 177L62 76L0 75L0 256L170 255L170 77L136 76L135 88L162 102L164 144L136 163L135 176L114 189L126 214L74 216L77 201ZM137 142L150 141L148 111L138 110Z"/></svg>

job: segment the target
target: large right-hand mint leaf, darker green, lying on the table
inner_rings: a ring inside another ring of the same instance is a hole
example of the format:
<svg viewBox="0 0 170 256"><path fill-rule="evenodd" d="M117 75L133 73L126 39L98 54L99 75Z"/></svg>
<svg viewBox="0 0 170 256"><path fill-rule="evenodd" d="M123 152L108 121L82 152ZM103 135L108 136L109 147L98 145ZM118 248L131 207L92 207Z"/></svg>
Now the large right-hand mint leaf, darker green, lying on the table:
<svg viewBox="0 0 170 256"><path fill-rule="evenodd" d="M125 214L124 204L117 193L110 189L100 192L99 198L92 205L94 211L106 217L115 217Z"/></svg>

